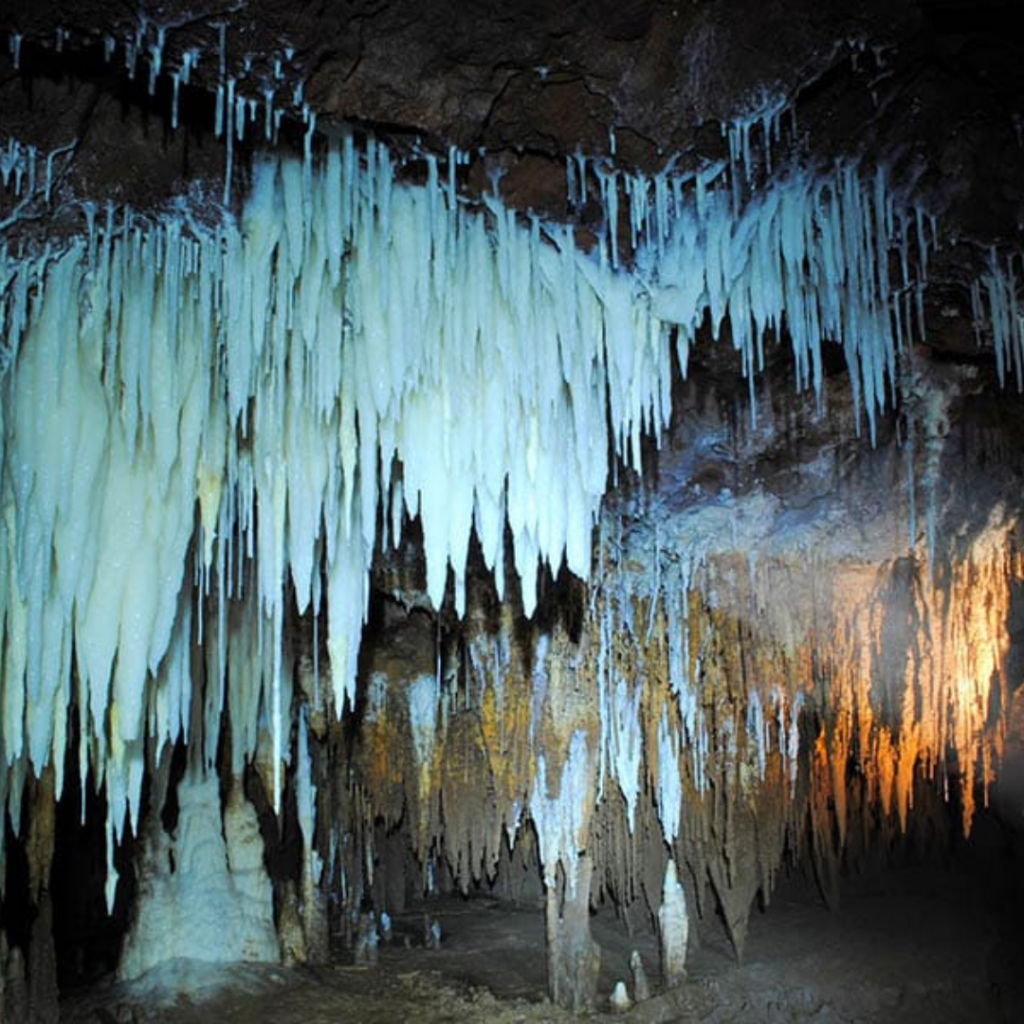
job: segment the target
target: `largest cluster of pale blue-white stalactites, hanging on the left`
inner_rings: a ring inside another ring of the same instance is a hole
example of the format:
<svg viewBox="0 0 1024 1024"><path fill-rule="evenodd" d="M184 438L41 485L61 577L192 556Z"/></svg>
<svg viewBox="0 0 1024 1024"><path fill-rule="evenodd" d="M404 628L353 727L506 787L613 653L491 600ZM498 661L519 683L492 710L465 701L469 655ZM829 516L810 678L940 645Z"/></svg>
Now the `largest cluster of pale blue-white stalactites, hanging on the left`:
<svg viewBox="0 0 1024 1024"><path fill-rule="evenodd" d="M236 764L262 724L280 792L289 582L300 613L327 597L340 713L379 509L385 545L419 516L438 607L472 530L501 573L507 524L528 615L541 559L589 573L609 450L638 462L669 416L667 332L627 278L567 228L469 210L433 160L396 184L372 140L258 161L238 223L88 209L0 268L0 796L62 769L74 703L114 833L147 737L197 717L197 644L208 748L225 705Z"/></svg>

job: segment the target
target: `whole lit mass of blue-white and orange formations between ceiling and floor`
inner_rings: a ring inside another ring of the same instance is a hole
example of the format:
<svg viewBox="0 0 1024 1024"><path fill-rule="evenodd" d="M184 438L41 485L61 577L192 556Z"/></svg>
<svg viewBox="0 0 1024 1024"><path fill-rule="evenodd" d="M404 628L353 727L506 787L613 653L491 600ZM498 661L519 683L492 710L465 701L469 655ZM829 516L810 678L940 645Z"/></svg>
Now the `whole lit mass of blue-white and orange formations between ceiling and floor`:
<svg viewBox="0 0 1024 1024"><path fill-rule="evenodd" d="M218 134L272 139L225 75ZM246 158L234 214L87 206L0 250L0 857L33 900L70 750L109 908L140 837L122 976L275 958L248 771L300 837L287 956L328 897L531 876L581 1008L591 902L642 906L681 979L690 919L741 953L785 854L831 898L914 814L970 829L1016 682L1019 263L964 272L991 370L943 368L940 219L898 168L819 167L781 100L695 170L563 154L592 248L470 191L484 156L296 105L304 156ZM29 231L74 155L3 153Z"/></svg>

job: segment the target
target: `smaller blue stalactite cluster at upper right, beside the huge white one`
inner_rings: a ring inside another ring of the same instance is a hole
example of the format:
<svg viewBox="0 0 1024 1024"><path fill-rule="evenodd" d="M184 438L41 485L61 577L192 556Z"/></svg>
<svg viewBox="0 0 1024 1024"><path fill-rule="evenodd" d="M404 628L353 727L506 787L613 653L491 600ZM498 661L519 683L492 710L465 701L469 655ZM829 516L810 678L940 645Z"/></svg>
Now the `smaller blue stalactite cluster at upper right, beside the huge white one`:
<svg viewBox="0 0 1024 1024"><path fill-rule="evenodd" d="M681 347L706 314L716 337L728 316L743 374L753 379L765 335L784 324L797 386L813 387L820 399L822 344L841 342L858 420L863 411L873 441L897 349L885 256L898 238L881 172L868 185L853 164L823 176L791 171L738 210L722 188L683 190L671 179L634 185L632 196L634 206L644 197L649 223L638 232L637 274L652 313L678 326Z"/></svg>

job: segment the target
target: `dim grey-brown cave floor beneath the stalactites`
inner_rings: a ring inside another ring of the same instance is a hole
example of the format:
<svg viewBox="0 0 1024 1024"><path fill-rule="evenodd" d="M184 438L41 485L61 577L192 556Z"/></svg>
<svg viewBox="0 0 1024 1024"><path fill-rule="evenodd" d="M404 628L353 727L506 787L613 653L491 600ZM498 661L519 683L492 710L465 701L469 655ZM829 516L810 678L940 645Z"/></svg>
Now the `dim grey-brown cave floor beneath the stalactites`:
<svg viewBox="0 0 1024 1024"><path fill-rule="evenodd" d="M1020 861L1012 864L1019 867ZM743 962L732 955L717 919L706 921L699 946L691 949L689 979L671 991L659 985L653 936L631 938L611 913L599 913L593 927L602 947L604 1009L583 1017L541 1001L545 958L539 904L437 899L427 904L442 929L436 950L423 944L421 908L396 916L394 939L381 947L376 967L351 966L343 955L317 968L178 965L176 972L133 988L100 983L69 996L62 1019L83 1024L1020 1021L1022 892L1024 879L1010 863L994 873L978 863L891 868L844 879L841 906L829 911L805 881L783 879L767 909L752 915ZM628 979L634 948L643 955L655 995L612 1015L608 994L616 979ZM174 978L184 978L187 998L168 993Z"/></svg>

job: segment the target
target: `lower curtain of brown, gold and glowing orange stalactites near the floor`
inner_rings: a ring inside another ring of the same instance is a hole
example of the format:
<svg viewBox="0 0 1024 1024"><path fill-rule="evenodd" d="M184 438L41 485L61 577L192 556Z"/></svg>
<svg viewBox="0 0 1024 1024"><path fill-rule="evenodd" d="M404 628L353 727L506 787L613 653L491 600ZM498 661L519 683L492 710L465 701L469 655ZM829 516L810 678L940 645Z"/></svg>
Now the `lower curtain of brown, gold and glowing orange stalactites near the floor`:
<svg viewBox="0 0 1024 1024"><path fill-rule="evenodd" d="M464 888L524 826L547 884L570 890L584 849L625 900L672 858L698 907L713 887L739 948L786 849L827 889L869 834L907 830L923 786L970 828L1009 707L1015 543L993 520L941 584L911 558L642 572L606 554L574 637L517 628L505 604L497 625L471 614L436 671L373 676L352 762L366 813L404 822L421 862L442 852Z"/></svg>

